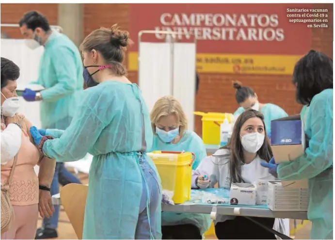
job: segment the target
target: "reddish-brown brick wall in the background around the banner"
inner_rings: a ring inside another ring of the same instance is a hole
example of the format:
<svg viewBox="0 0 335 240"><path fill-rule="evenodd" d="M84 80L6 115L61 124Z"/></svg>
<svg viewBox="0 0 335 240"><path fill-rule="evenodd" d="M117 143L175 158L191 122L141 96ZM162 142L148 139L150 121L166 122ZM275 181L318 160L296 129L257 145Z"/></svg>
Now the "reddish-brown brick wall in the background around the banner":
<svg viewBox="0 0 335 240"><path fill-rule="evenodd" d="M83 32L86 36L99 27L111 27L118 23L122 29L130 29L130 4L83 4ZM333 57L333 4L313 4L313 8L328 9L328 28L312 28L311 46ZM57 4L1 4L1 23L18 22L24 12L41 11L50 24L57 23ZM16 29L8 31L19 37ZM137 38L137 36L132 36ZM125 64L128 64L126 59ZM288 114L296 114L301 106L295 102L295 91L291 76L285 75L236 75L200 74L199 92L196 96L196 111L234 112L238 108L232 80L239 80L252 87L262 103L271 102L282 107ZM137 82L137 72L129 72L129 78ZM201 120L196 117L195 130L201 134Z"/></svg>

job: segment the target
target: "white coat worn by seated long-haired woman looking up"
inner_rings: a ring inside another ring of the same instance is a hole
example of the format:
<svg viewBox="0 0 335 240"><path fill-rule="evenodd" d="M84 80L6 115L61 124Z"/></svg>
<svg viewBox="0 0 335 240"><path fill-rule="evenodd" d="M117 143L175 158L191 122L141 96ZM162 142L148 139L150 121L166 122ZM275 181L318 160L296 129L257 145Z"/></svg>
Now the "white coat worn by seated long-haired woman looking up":
<svg viewBox="0 0 335 240"><path fill-rule="evenodd" d="M207 175L210 180L209 188L214 187L218 183L219 188L230 188L231 177L229 171L229 157L215 157L221 155L227 155L229 152L227 149L219 149L213 155L203 159L196 170L192 172L192 187L195 188L195 179L200 175ZM256 180L263 177L273 177L268 168L262 167L260 163L262 160L258 156L249 164L242 165L241 176L246 183L255 183ZM275 178L273 177L273 180ZM235 216L220 215L215 220L215 224L218 222L224 222L225 220L232 220ZM273 229L289 236L289 219L275 219Z"/></svg>

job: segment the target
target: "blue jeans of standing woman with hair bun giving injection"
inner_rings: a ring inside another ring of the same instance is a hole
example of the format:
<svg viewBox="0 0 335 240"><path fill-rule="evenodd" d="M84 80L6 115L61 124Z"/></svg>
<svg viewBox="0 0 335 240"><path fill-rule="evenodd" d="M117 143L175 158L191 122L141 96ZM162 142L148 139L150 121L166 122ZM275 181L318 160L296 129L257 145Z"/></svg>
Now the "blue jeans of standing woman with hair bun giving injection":
<svg viewBox="0 0 335 240"><path fill-rule="evenodd" d="M148 164L144 157L140 157L140 166L143 171L142 176L142 196L139 211L139 218L136 226L135 239L150 239L150 229L152 235L157 235L157 208L160 204L160 188L158 183L158 177L152 167ZM145 179L144 179L145 178ZM147 185L145 184L147 182ZM149 199L147 193L147 187L149 188ZM149 201L149 211L147 212L146 204ZM149 218L150 217L150 226Z"/></svg>

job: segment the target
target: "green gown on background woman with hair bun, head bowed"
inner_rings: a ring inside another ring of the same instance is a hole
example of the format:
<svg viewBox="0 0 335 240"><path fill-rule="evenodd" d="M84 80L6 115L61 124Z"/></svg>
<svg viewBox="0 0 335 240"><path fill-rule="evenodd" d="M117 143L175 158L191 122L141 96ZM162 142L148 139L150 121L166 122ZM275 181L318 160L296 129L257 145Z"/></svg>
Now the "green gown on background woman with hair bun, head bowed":
<svg viewBox="0 0 335 240"><path fill-rule="evenodd" d="M244 112L244 108L239 107L236 112L234 112L234 116L239 116L242 112ZM287 117L287 113L279 106L274 105L272 103L266 103L264 106L259 110L259 112L263 113L264 115L264 123L265 128L268 133L271 133L271 121L274 119Z"/></svg>

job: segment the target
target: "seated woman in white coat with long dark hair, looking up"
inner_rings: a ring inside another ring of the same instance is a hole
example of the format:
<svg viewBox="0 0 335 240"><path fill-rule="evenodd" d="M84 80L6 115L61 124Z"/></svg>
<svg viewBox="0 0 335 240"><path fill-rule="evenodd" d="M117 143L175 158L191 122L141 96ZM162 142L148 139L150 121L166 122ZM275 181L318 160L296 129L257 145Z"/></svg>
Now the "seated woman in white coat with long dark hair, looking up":
<svg viewBox="0 0 335 240"><path fill-rule="evenodd" d="M269 162L271 158L263 114L252 109L246 110L236 120L230 143L203 159L193 171L192 187L213 188L218 183L219 188L230 188L232 182L254 183L259 178L271 177L268 169L260 165L262 161ZM274 218L254 219L269 228L275 223ZM284 228L283 221L276 222L275 230L286 234L281 230ZM276 239L273 233L242 216L218 217L215 234L218 239Z"/></svg>

